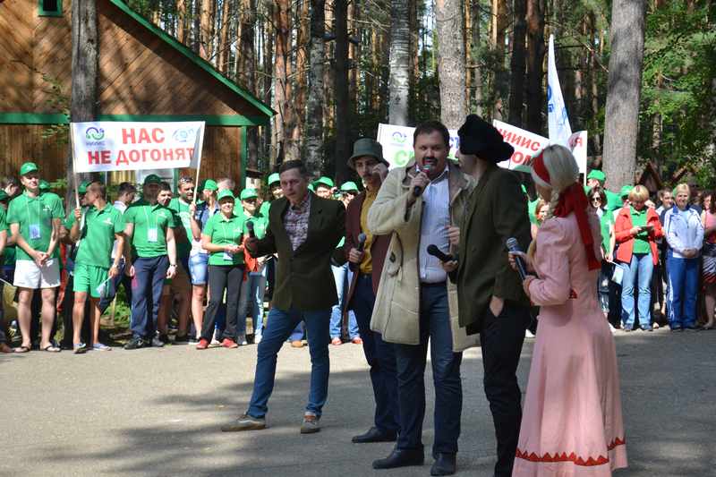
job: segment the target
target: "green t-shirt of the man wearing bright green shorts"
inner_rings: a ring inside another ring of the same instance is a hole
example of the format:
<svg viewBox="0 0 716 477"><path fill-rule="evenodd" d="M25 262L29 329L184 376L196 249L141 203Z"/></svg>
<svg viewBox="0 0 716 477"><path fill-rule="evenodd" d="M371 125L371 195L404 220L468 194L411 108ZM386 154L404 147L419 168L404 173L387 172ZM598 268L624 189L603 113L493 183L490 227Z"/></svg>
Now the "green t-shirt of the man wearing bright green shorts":
<svg viewBox="0 0 716 477"><path fill-rule="evenodd" d="M115 234L124 232L122 212L107 204L102 210L90 207L84 214L84 227L74 262L108 269L112 265ZM74 222L72 211L67 217L67 228L72 228Z"/></svg>

